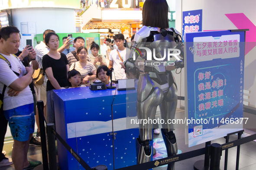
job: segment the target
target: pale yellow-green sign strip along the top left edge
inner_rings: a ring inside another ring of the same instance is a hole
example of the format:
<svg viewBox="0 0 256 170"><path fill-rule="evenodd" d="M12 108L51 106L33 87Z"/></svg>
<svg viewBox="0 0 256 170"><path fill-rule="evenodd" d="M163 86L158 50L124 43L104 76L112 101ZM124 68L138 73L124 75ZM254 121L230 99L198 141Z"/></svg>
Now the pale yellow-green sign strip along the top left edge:
<svg viewBox="0 0 256 170"><path fill-rule="evenodd" d="M71 8L80 9L79 0L0 0L0 10L14 8Z"/></svg>

